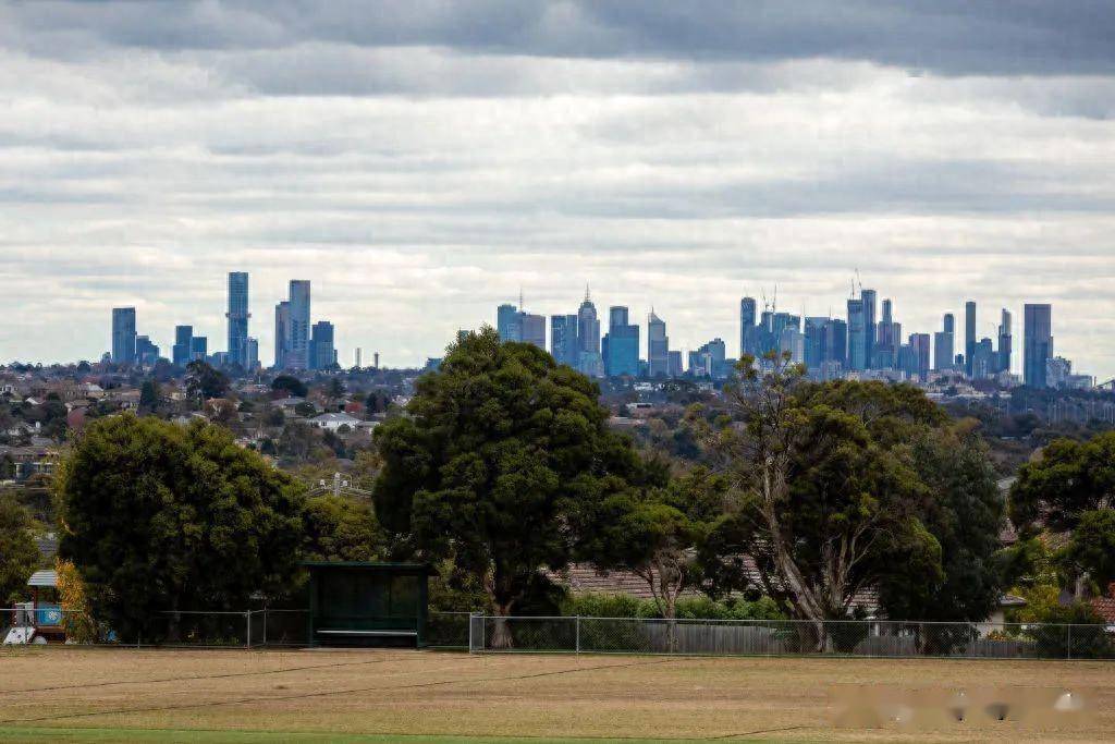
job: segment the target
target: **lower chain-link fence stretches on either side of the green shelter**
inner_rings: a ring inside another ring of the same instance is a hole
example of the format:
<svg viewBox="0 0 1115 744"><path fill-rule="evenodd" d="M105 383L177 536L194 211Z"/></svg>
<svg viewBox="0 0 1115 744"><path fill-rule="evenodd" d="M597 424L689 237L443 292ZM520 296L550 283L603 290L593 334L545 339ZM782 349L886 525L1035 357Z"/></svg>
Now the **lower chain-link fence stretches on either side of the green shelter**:
<svg viewBox="0 0 1115 744"><path fill-rule="evenodd" d="M426 645L468 648L468 612L432 612ZM188 648L282 648L308 646L304 609L183 610L152 613L136 629L120 630L86 612L56 603L0 608L0 642L161 646Z"/></svg>

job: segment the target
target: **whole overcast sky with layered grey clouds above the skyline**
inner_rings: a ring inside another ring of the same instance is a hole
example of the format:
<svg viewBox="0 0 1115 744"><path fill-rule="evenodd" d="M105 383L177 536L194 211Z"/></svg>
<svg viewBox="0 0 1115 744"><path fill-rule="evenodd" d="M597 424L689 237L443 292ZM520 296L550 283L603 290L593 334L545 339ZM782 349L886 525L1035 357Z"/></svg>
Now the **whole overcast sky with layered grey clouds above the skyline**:
<svg viewBox="0 0 1115 744"><path fill-rule="evenodd" d="M1108 0L2 2L0 361L98 358L117 305L224 349L233 270L264 364L291 278L342 364L586 283L734 354L741 296L843 316L859 269L904 332L1010 309L1016 369L1053 302L1107 379L1113 39Z"/></svg>

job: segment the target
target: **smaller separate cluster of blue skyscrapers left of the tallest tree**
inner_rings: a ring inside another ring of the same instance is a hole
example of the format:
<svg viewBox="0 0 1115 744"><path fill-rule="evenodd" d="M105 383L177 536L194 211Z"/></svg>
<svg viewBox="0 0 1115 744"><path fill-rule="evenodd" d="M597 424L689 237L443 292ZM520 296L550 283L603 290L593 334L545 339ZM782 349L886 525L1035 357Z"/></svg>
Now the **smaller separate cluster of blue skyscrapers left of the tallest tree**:
<svg viewBox="0 0 1115 744"><path fill-rule="evenodd" d="M260 366L259 341L248 335L249 279L244 271L229 273L227 351L209 352L209 339L195 336L193 326L175 326L171 361L185 366L196 359L220 367L252 370ZM136 335L135 308L113 309L112 360L125 365L154 365L159 349L147 336ZM321 320L310 326L310 282L290 282L288 299L275 306L275 368L328 369L337 364L333 325Z"/></svg>

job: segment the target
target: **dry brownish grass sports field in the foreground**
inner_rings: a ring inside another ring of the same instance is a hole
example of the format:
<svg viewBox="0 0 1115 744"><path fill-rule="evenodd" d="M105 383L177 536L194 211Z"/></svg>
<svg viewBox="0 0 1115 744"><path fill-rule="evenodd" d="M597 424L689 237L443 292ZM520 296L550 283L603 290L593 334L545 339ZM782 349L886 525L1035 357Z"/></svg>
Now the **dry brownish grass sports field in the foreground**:
<svg viewBox="0 0 1115 744"><path fill-rule="evenodd" d="M831 728L838 685L1075 686L1075 731ZM0 650L4 741L1099 741L1115 664L469 656L417 651Z"/></svg>

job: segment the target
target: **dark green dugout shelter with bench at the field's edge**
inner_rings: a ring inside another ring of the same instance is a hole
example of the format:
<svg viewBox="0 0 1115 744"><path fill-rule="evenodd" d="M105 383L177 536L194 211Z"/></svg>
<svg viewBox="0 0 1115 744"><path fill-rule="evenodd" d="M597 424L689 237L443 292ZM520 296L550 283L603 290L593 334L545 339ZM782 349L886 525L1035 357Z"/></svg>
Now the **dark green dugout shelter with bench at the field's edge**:
<svg viewBox="0 0 1115 744"><path fill-rule="evenodd" d="M312 562L311 646L426 644L425 563Z"/></svg>

